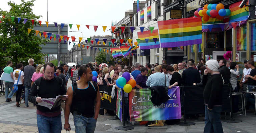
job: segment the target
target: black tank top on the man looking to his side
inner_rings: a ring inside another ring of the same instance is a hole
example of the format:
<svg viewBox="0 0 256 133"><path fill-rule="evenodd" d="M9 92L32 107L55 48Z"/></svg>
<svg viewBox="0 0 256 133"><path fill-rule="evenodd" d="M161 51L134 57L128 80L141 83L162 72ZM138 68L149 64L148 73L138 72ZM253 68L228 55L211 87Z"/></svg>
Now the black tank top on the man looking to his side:
<svg viewBox="0 0 256 133"><path fill-rule="evenodd" d="M97 96L96 89L97 84L88 82L87 88L77 88L75 98L73 99L72 103L73 111L77 111L79 113L85 114L87 116L93 117L94 116L94 100ZM73 86L72 86L73 89ZM99 89L99 88L98 88ZM74 90L74 89L73 89Z"/></svg>

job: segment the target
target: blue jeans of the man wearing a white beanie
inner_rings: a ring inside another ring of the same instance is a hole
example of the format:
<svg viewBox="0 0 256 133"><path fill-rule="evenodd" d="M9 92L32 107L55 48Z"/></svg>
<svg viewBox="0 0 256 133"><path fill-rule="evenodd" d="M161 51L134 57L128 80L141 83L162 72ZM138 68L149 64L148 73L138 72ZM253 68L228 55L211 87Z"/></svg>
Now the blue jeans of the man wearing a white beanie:
<svg viewBox="0 0 256 133"><path fill-rule="evenodd" d="M205 105L205 126L204 133L223 133L223 128L221 124L221 109L222 106L212 107L209 110Z"/></svg>

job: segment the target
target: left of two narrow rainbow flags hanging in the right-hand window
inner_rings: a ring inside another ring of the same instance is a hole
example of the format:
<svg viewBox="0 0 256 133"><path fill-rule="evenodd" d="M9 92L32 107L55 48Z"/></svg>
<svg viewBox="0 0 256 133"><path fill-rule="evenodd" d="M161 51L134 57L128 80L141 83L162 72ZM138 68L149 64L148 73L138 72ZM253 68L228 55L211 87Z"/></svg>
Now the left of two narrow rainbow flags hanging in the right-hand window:
<svg viewBox="0 0 256 133"><path fill-rule="evenodd" d="M246 29L243 27L236 27L236 50L246 50Z"/></svg>

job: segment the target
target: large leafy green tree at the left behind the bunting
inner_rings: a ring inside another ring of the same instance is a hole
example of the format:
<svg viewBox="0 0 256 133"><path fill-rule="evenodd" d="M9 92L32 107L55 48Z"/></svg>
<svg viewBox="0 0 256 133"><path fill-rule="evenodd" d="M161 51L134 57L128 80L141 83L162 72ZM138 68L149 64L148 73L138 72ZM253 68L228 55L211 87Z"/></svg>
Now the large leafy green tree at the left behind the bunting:
<svg viewBox="0 0 256 133"><path fill-rule="evenodd" d="M34 25L39 25L38 20L42 16L36 16L32 12L32 6L34 6L34 0L25 2L20 5L9 1L8 5L11 7L10 11L3 11L0 8L0 14L3 16L0 23L0 66L6 64L7 59L10 58L12 62L27 62L29 58L33 58L36 64L43 64L43 54L41 44L44 42L49 42L50 40L44 39L43 37L37 37L32 30L28 33L28 29L33 29L32 21L34 19ZM15 17L11 17L15 16ZM18 23L17 17L21 20ZM14 20L13 20L14 18ZM24 24L24 19L28 18L26 24ZM13 21L12 21L13 20ZM8 58L6 58L8 57ZM15 65L14 65L15 66Z"/></svg>

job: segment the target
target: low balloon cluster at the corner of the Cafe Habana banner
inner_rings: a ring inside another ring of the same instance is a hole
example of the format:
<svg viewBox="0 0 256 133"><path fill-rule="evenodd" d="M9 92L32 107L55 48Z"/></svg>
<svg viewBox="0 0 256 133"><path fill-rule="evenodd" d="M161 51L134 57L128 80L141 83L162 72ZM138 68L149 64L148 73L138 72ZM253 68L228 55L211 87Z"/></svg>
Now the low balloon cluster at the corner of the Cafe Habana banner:
<svg viewBox="0 0 256 133"><path fill-rule="evenodd" d="M124 72L122 77L116 81L116 86L119 88L124 88L124 92L126 93L131 92L135 85L136 81L131 78L131 75L128 72Z"/></svg>

